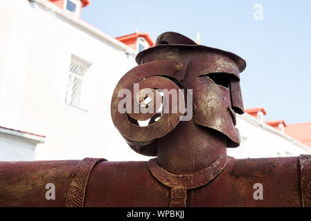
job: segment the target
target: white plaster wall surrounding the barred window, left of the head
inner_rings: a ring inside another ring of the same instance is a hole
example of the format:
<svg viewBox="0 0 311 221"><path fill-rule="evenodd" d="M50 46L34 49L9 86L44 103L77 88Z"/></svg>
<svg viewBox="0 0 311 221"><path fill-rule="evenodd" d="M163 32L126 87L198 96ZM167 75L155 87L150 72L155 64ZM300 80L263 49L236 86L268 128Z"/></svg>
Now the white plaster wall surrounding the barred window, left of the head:
<svg viewBox="0 0 311 221"><path fill-rule="evenodd" d="M19 128L46 135L36 159L148 158L127 146L110 116L114 87L136 66L134 58L41 6L27 7L34 8L35 19ZM64 102L71 55L91 63L88 112Z"/></svg>

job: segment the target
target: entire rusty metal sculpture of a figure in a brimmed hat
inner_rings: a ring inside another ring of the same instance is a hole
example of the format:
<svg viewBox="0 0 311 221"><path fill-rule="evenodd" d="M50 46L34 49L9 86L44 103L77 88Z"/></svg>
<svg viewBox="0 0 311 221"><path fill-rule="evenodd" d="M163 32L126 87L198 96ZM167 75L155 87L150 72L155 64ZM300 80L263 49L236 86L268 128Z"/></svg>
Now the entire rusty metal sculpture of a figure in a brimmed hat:
<svg viewBox="0 0 311 221"><path fill-rule="evenodd" d="M236 113L244 113L243 59L165 32L136 61L139 66L114 90L112 120L134 151L157 158L1 162L0 206L311 206L309 155L226 155L227 147L240 144L235 125ZM120 96L123 89L133 96ZM147 90L153 96L146 104ZM179 96L163 96L164 90ZM151 104L161 104L160 111L141 111ZM170 111L163 112L166 107ZM148 125L140 126L146 119ZM57 188L55 200L45 198L47 183ZM254 198L256 184L263 188L261 199Z"/></svg>

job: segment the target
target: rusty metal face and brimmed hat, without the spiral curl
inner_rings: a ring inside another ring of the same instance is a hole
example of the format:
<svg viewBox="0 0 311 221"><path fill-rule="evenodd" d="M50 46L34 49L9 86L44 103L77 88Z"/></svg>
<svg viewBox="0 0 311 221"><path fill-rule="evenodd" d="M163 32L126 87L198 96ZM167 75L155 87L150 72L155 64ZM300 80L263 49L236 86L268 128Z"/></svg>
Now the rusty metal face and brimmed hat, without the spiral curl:
<svg viewBox="0 0 311 221"><path fill-rule="evenodd" d="M166 44L161 44L162 41ZM227 137L227 147L237 147L240 136L233 125L234 112L244 113L239 81L240 72L246 66L245 61L231 52L199 46L175 32L163 33L155 47L140 52L136 57L137 63L142 65L170 59L188 61L186 76L179 82L184 88L193 89L195 123L220 131ZM226 79L229 82L227 88L215 84L215 78Z"/></svg>

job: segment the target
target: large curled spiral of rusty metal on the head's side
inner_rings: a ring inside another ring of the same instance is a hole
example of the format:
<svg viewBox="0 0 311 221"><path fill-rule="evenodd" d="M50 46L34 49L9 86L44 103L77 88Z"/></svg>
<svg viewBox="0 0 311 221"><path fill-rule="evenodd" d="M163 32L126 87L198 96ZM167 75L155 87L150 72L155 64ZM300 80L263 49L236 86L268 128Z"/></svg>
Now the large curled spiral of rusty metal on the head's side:
<svg viewBox="0 0 311 221"><path fill-rule="evenodd" d="M118 97L119 91L122 89L132 90L134 84L137 83L140 89L157 87L158 89L166 88L170 90L175 88L175 90L179 90L175 82L161 76L165 75L177 81L181 81L184 79L187 65L188 61L182 59L152 61L148 64L132 68L132 70L126 73L118 82L112 96L112 121L134 151L143 155L157 155L157 147L154 147L155 144L152 144L152 142L172 131L178 124L181 113L164 113L158 122L141 128L141 126L135 122L136 119L145 119L146 115L148 117L152 117L152 115L142 113L136 113L136 115L134 115L131 113L130 117L133 117L133 120L131 120L129 119L129 115L120 113L118 104L120 104L124 97ZM145 84L146 81L148 81L148 84ZM148 85L152 86L148 87ZM134 97L133 93L132 97ZM133 109L134 108L132 108L132 111L134 111ZM156 113L153 115L155 114ZM151 150L148 150L148 148Z"/></svg>

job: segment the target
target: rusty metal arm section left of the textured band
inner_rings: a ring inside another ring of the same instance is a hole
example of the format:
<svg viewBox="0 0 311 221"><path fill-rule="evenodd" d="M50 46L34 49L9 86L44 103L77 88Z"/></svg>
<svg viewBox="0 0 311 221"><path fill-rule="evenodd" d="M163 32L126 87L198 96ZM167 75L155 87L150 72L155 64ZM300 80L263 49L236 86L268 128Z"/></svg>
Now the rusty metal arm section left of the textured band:
<svg viewBox="0 0 311 221"><path fill-rule="evenodd" d="M64 206L66 188L78 162L0 162L0 206ZM46 200L52 184L55 200Z"/></svg>

